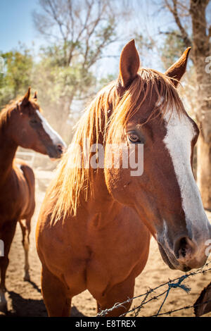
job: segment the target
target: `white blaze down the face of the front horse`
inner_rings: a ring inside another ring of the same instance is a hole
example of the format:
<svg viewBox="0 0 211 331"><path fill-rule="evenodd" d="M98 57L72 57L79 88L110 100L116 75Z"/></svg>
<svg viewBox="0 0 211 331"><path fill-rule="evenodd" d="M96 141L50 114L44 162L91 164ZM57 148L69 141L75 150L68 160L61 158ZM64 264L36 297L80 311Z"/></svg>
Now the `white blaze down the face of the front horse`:
<svg viewBox="0 0 211 331"><path fill-rule="evenodd" d="M167 129L164 142L177 176L186 227L193 241L200 244L198 241L209 234L209 222L191 168L191 141L196 132L191 120L185 114L179 118L176 109L172 114L167 113L164 119Z"/></svg>

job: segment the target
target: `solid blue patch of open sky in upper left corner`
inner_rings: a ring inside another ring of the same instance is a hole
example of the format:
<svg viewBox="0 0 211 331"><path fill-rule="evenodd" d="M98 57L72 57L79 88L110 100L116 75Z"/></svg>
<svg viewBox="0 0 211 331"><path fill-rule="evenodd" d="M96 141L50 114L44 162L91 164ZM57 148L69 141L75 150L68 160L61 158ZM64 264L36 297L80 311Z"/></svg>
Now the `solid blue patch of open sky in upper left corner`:
<svg viewBox="0 0 211 331"><path fill-rule="evenodd" d="M0 4L0 50L10 51L18 42L32 46L40 43L33 27L32 11L37 0L1 0Z"/></svg>

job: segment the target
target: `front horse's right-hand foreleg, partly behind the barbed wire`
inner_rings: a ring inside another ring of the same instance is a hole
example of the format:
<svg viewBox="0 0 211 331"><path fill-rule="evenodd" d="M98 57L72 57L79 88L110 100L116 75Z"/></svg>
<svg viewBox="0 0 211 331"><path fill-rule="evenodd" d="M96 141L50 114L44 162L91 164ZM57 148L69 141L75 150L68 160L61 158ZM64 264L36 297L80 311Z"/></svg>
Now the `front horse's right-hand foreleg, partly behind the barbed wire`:
<svg viewBox="0 0 211 331"><path fill-rule="evenodd" d="M114 285L108 291L103 293L103 296L97 301L98 313L104 311L108 308L112 308L115 304L126 301L127 299L132 299L134 296L134 277L129 277L124 282ZM113 309L106 314L105 317L117 317L129 311L129 307L132 305L131 302L123 304L119 308Z"/></svg>

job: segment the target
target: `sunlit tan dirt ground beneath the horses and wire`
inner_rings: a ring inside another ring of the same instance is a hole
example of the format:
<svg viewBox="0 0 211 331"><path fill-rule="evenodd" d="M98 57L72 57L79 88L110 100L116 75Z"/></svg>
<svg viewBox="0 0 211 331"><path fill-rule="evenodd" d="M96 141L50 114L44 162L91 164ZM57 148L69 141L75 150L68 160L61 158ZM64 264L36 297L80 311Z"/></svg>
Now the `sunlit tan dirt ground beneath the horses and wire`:
<svg viewBox="0 0 211 331"><path fill-rule="evenodd" d="M21 232L18 224L15 238L11 246L10 252L10 263L8 266L8 272L6 275L6 287L8 292L6 297L8 299L8 313L6 316L47 316L46 308L42 301L41 290L40 290L40 270L41 265L37 256L37 251L34 244L34 230L36 226L37 216L41 201L44 198L44 191L46 186L51 180L52 173L50 171L37 170L35 172L37 178L37 189L36 189L36 211L32 218L32 233L30 236L30 282L24 282L23 280L23 266L24 266L24 253L23 246L21 243ZM211 221L211 213L207 213ZM210 258L209 258L210 261ZM180 271L170 270L165 263L162 261L160 253L158 251L158 245L155 240L151 240L151 250L146 268L143 273L136 278L135 295L145 293L149 288L157 287L158 285L167 282L169 279L174 279L183 275ZM165 304L162 306L160 313L166 311L172 311L177 308L184 306L193 305L198 295L204 287L210 283L211 273L205 275L200 274L194 277L189 277L184 281L184 284L191 287L191 292L187 294L183 289L171 289L170 295L167 297ZM161 287L153 296L158 295L167 287ZM152 297L149 296L148 299ZM135 299L132 304L139 306L141 299ZM161 296L158 300L152 300L141 309L139 316L152 316L158 313L158 309L162 304L164 296ZM0 316L5 316L4 313L0 313ZM89 292L83 292L72 299L72 312L71 316L96 316L96 301L92 298ZM128 313L127 316L134 316L133 313ZM172 313L171 316L194 316L193 308L178 311ZM206 316L211 317L211 313Z"/></svg>

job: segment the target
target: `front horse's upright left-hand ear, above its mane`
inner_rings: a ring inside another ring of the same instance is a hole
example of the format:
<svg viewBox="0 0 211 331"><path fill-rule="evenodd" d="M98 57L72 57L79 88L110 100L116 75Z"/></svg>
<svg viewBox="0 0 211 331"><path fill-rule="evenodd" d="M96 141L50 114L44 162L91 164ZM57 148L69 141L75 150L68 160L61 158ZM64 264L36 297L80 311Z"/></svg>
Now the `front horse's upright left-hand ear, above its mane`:
<svg viewBox="0 0 211 331"><path fill-rule="evenodd" d="M138 73L140 65L139 54L135 46L134 39L132 39L122 49L120 56L120 75L119 81L122 87L127 87L129 83L134 80Z"/></svg>

